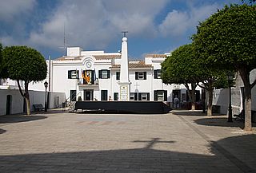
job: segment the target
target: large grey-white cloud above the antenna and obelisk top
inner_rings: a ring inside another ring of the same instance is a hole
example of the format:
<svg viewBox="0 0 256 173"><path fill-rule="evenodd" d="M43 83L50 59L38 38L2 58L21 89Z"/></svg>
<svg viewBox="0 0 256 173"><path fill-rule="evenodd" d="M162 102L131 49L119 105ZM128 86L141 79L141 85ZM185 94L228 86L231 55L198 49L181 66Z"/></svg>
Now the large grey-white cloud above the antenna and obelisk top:
<svg viewBox="0 0 256 173"><path fill-rule="evenodd" d="M133 36L154 35L155 15L166 5L166 0L142 1L64 1L40 31L30 33L36 45L63 45L63 25L66 26L68 45L102 49L120 37L122 30Z"/></svg>

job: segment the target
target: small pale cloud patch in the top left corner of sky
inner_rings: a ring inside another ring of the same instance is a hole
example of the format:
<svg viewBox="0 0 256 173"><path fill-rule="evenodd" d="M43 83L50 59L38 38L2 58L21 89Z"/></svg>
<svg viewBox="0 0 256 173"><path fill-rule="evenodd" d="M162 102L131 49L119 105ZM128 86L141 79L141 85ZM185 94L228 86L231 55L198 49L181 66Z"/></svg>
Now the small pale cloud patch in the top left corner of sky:
<svg viewBox="0 0 256 173"><path fill-rule="evenodd" d="M11 21L14 17L32 10L35 0L1 0L0 21Z"/></svg>

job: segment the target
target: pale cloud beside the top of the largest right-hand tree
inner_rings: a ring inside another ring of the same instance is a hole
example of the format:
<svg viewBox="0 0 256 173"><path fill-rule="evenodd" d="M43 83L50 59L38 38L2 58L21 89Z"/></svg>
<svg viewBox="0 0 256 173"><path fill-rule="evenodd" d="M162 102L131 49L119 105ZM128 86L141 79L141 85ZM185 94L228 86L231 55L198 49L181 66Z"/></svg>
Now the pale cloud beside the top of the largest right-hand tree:
<svg viewBox="0 0 256 173"><path fill-rule="evenodd" d="M190 8L186 12L172 10L158 26L159 32L163 36L182 36L190 29L195 30L198 22L210 17L210 14L214 14L219 7L217 3L197 7L190 3Z"/></svg>

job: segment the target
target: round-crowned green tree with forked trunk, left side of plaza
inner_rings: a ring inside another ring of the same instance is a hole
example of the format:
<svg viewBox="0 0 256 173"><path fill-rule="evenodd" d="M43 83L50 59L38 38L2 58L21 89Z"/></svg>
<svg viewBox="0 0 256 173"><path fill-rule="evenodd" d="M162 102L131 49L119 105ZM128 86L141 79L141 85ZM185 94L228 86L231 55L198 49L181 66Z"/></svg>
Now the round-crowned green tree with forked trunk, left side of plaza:
<svg viewBox="0 0 256 173"><path fill-rule="evenodd" d="M29 83L46 78L47 65L42 54L27 46L10 46L2 50L4 77L15 80L21 95L26 99L27 115L30 115ZM24 81L22 91L20 81Z"/></svg>

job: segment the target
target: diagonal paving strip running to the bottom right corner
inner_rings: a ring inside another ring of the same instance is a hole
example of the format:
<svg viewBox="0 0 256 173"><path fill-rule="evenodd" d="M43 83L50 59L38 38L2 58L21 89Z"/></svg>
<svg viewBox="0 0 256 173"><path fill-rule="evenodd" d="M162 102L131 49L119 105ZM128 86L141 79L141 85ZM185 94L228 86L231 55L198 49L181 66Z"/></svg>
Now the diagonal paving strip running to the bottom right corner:
<svg viewBox="0 0 256 173"><path fill-rule="evenodd" d="M213 140L210 140L208 136L206 136L203 132L198 130L198 128L194 127L194 125L191 124L188 120L186 120L182 116L178 116L178 117L190 128L192 128L194 132L196 132L199 136L201 136L203 140L206 140L206 142L209 143L215 150L217 150L222 155L224 155L226 159L229 159L231 163L234 163L234 165L238 167L242 172L244 173L256 172L251 167L249 167L246 163L244 163L241 159L238 159L236 156L232 155L230 151L227 151L224 147L222 147L218 143L214 142Z"/></svg>

